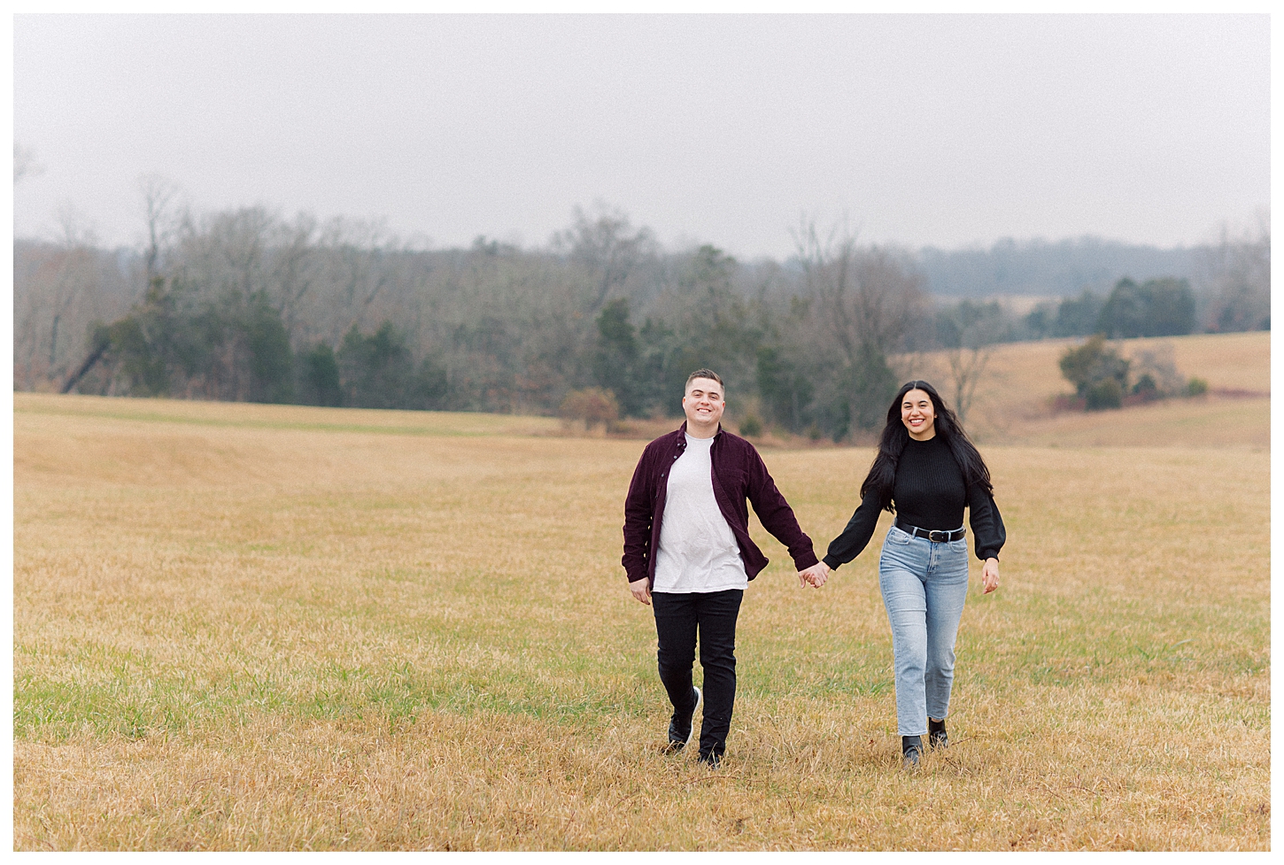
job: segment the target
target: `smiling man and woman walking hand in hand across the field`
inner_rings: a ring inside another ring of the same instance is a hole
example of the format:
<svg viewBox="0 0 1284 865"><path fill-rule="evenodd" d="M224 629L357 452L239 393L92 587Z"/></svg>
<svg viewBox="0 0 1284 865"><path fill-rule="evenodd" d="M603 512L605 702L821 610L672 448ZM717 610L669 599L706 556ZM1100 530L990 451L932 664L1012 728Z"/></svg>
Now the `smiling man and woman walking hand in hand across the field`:
<svg viewBox="0 0 1284 865"><path fill-rule="evenodd" d="M736 698L736 620L749 581L767 557L749 536L749 508L788 548L800 583L820 588L869 543L881 511L896 515L878 560L891 622L901 756L918 765L927 746L945 747L954 683L954 638L967 597L963 508L968 510L984 592L999 587L1005 530L990 471L958 417L926 381L900 388L860 506L818 561L752 444L722 429L722 377L687 379L681 429L642 452L624 502L629 590L655 611L660 681L673 703L669 747L691 742L704 706L700 761L716 767L727 749ZM704 689L692 684L696 646Z"/></svg>

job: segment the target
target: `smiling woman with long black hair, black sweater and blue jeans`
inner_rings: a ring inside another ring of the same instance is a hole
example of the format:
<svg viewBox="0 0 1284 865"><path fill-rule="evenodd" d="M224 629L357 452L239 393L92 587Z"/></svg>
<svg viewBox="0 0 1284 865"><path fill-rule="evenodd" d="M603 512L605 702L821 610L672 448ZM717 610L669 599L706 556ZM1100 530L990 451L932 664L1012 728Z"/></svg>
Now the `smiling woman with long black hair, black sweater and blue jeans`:
<svg viewBox="0 0 1284 865"><path fill-rule="evenodd" d="M878 560L896 665L896 724L903 760L917 766L922 737L945 747L945 716L954 684L954 638L967 597L969 511L976 556L985 562L985 593L999 588L999 549L1005 531L994 504L990 470L958 417L926 381L910 381L887 409L878 456L860 485L860 507L809 569L822 585L829 570L850 562L869 543L878 512L896 515Z"/></svg>

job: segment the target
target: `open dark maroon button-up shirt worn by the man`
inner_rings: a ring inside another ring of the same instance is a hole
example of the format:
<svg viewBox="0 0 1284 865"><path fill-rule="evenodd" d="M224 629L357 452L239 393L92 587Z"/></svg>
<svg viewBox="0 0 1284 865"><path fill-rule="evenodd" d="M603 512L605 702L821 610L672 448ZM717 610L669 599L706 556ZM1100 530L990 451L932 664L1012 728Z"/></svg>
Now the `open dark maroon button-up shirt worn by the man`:
<svg viewBox="0 0 1284 865"><path fill-rule="evenodd" d="M629 583L648 579L655 584L655 551L660 548L669 468L686 449L687 424L683 421L681 429L648 444L633 471L633 483L624 499L624 558L620 560ZM749 579L752 580L767 567L767 556L749 536L746 499L754 504L754 513L763 527L788 548L797 570L815 565L811 539L799 527L794 508L776 489L776 481L754 445L719 426L709 458L713 462L714 499L736 535Z"/></svg>

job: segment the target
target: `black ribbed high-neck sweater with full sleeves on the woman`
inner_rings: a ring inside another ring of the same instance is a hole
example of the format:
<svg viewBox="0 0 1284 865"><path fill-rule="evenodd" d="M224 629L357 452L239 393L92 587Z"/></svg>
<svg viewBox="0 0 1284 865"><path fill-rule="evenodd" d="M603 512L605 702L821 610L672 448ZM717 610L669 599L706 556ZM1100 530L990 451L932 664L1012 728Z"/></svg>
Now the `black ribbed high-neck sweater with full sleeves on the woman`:
<svg viewBox="0 0 1284 865"><path fill-rule="evenodd" d="M967 507L976 557L999 557L1003 540L990 511L990 497L980 485L968 489L963 470L941 436L932 436L927 441L910 439L905 443L905 450L896 463L891 501L901 522L945 531L963 525L963 508ZM859 556L874 534L881 510L878 493L869 490L847 521L847 527L829 544L824 563L836 569Z"/></svg>

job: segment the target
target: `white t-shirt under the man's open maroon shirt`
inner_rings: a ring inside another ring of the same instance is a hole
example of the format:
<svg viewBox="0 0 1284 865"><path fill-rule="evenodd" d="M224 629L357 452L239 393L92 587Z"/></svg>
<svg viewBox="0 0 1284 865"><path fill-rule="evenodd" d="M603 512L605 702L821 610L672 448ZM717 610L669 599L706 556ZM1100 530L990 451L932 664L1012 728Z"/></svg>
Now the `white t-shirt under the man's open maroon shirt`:
<svg viewBox="0 0 1284 865"><path fill-rule="evenodd" d="M736 535L714 498L714 440L687 434L687 449L673 462L660 520L652 592L723 592L749 587Z"/></svg>

